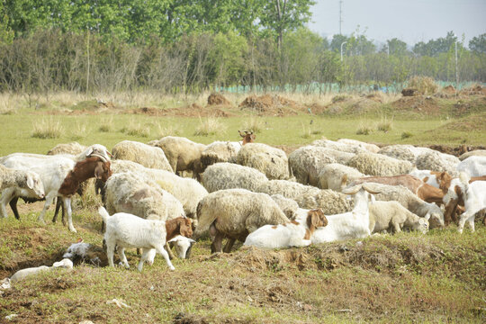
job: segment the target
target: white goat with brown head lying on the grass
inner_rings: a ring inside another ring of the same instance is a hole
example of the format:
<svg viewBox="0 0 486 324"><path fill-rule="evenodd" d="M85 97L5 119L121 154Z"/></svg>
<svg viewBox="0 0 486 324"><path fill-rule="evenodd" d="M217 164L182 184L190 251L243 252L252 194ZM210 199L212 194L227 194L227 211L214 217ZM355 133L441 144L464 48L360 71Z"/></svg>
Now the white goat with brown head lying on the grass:
<svg viewBox="0 0 486 324"><path fill-rule="evenodd" d="M304 220L293 220L279 225L264 225L250 233L245 246L262 248L307 247L316 229L328 225L328 219L320 209L307 211Z"/></svg>

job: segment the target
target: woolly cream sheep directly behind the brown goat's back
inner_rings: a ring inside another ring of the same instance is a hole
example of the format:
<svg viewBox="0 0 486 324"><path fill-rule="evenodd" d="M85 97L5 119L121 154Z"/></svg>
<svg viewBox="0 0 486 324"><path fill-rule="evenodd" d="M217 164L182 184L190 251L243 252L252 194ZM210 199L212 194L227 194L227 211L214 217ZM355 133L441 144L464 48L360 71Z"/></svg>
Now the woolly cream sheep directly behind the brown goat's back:
<svg viewBox="0 0 486 324"><path fill-rule="evenodd" d="M356 167L365 175L403 175L408 174L413 165L409 161L387 157L377 153L359 153L352 157L347 166Z"/></svg>

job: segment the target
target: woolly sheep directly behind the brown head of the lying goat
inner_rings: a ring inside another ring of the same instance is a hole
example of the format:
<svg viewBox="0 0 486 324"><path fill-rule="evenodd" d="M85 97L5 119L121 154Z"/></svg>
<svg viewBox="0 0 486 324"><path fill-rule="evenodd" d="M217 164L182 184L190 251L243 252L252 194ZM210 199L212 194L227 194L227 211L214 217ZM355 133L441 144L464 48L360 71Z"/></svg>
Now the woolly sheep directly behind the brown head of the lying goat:
<svg viewBox="0 0 486 324"><path fill-rule="evenodd" d="M285 198L293 199L303 209L320 208L327 215L351 210L346 194L329 189L322 190L292 181L270 180L260 185L256 191L258 193L282 194Z"/></svg>

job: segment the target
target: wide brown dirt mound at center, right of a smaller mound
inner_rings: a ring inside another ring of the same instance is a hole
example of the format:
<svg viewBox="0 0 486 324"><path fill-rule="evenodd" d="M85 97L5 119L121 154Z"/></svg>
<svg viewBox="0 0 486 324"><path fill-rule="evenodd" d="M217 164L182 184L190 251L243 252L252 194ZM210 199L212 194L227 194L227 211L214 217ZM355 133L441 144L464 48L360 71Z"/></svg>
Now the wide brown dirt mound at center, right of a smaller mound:
<svg viewBox="0 0 486 324"><path fill-rule="evenodd" d="M238 104L239 109L249 109L260 113L272 113L277 115L292 114L284 112L284 107L295 107L297 103L280 95L264 94L247 96L242 103ZM294 112L295 113L295 112Z"/></svg>

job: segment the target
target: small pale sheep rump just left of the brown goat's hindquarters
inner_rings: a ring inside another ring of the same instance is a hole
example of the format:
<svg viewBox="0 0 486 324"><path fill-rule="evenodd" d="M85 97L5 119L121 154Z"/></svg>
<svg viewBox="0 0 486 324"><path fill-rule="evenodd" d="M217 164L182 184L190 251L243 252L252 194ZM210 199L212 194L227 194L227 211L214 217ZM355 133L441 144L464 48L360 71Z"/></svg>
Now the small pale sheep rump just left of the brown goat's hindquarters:
<svg viewBox="0 0 486 324"><path fill-rule="evenodd" d="M332 189L340 192L347 183L362 176L365 175L354 167L331 163L320 170L317 186L320 189Z"/></svg>

